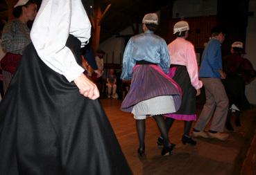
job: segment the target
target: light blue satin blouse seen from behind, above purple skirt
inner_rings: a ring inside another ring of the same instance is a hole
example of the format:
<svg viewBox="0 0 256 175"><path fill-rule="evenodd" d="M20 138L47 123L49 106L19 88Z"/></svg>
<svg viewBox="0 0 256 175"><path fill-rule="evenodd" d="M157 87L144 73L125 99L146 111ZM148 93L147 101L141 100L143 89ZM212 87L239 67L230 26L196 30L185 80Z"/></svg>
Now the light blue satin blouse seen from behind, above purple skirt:
<svg viewBox="0 0 256 175"><path fill-rule="evenodd" d="M170 66L166 42L151 30L146 30L142 34L131 37L126 45L123 57L126 57L126 59L123 59L123 71L121 74L121 79L123 80L131 79L133 66L139 61L157 64L164 73L168 73Z"/></svg>

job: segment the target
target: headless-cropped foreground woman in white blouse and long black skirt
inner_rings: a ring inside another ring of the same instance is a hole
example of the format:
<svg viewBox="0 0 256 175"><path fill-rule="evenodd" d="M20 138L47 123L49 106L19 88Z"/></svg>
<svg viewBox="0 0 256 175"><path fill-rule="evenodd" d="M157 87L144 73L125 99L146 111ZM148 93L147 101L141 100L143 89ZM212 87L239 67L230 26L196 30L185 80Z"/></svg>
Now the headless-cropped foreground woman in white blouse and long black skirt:
<svg viewBox="0 0 256 175"><path fill-rule="evenodd" d="M43 0L0 105L0 174L132 174L80 67L89 39L80 0Z"/></svg>

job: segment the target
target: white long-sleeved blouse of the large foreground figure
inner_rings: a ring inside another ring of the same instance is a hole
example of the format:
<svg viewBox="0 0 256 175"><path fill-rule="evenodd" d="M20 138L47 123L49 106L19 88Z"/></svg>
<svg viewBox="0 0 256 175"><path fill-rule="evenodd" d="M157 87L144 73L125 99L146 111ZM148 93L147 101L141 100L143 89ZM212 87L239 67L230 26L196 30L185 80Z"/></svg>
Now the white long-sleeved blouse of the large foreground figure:
<svg viewBox="0 0 256 175"><path fill-rule="evenodd" d="M65 46L69 34L85 46L91 24L81 0L42 0L31 29L31 40L42 61L53 71L73 81L84 69Z"/></svg>

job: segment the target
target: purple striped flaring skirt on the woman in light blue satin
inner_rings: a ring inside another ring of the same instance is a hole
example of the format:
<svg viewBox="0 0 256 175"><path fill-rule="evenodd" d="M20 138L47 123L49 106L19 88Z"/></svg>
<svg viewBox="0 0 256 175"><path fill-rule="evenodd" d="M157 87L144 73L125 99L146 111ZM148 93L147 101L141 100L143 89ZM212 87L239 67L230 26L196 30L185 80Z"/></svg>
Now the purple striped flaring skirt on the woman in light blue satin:
<svg viewBox="0 0 256 175"><path fill-rule="evenodd" d="M154 64L139 64L133 68L130 90L121 104L121 110L133 111L138 102L160 95L172 95L175 108L179 109L182 98L180 86Z"/></svg>

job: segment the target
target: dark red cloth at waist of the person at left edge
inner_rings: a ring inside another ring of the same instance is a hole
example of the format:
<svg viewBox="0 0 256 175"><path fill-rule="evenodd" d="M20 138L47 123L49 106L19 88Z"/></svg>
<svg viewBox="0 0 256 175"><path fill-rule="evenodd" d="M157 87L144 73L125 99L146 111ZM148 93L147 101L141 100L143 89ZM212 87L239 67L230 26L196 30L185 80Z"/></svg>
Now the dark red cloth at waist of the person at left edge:
<svg viewBox="0 0 256 175"><path fill-rule="evenodd" d="M16 68L19 66L19 62L22 59L22 55L15 53L6 53L6 55L1 59L1 68L4 71L14 74Z"/></svg>

